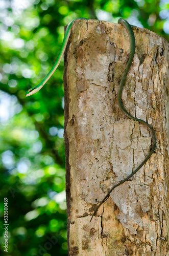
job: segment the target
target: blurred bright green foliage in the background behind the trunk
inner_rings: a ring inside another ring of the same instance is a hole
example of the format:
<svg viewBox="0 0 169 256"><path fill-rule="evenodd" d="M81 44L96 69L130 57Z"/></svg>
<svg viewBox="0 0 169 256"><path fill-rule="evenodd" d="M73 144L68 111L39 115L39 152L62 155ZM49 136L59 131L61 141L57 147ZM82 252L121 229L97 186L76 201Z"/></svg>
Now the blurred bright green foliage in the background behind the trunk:
<svg viewBox="0 0 169 256"><path fill-rule="evenodd" d="M168 6L165 0L1 1L1 255L67 255L63 60L41 91L25 97L53 66L64 26L76 17L123 17L168 40Z"/></svg>

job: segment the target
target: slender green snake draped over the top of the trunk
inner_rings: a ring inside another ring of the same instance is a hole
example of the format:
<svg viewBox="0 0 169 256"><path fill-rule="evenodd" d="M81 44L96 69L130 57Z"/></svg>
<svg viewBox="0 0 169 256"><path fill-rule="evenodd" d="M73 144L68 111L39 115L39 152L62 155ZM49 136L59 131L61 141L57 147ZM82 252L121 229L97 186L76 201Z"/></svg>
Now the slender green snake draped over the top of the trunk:
<svg viewBox="0 0 169 256"><path fill-rule="evenodd" d="M71 20L71 22L67 25L67 28L66 28L66 31L65 31L65 36L64 36L64 39L63 39L62 47L61 47L61 51L60 51L60 53L59 53L59 55L57 57L57 60L56 60L56 62L54 64L54 66L52 67L51 71L45 76L45 78L38 84L38 86L35 86L35 87L33 87L33 88L31 88L30 90L27 91L26 96L30 96L30 95L38 92L44 86L44 84L47 82L47 80L50 79L50 77L53 75L53 73L57 69L57 67L58 67L58 65L59 65L59 63L61 61L61 58L63 56L63 53L64 53L64 51L66 49L67 41L68 41L69 36L70 36L71 26L73 25L73 23L74 23L74 21L76 19L87 19L88 20L88 18L75 18L75 19ZM108 193L106 194L104 199L100 202L98 207L96 207L96 209L94 210L93 215L92 215L92 217L90 219L90 222L91 222L93 216L95 215L96 211L98 211L98 209L101 206L101 204L108 198L108 196L110 195L111 191L115 187L119 186L120 184L122 184L125 181L127 181L128 179L130 179L136 172L138 172L138 170L144 165L144 163L146 163L147 160L151 157L151 155L153 154L153 152L155 150L155 147L156 147L156 137L155 137L155 133L154 133L152 127L147 122L145 122L145 121L143 121L141 119L138 119L138 118L130 115L127 112L127 110L124 108L123 103L122 103L122 92L123 92L124 84L125 84L126 77L127 77L128 72L130 70L130 67L131 67L131 64L132 64L132 61L133 61L133 58L134 58L134 54L135 54L135 37L134 37L134 33L133 33L133 30L132 30L132 27L127 22L127 20L119 18L118 19L118 23L122 24L125 27L125 29L126 29L126 31L128 33L128 36L129 36L129 40L130 40L130 54L129 54L129 59L128 59L125 71L124 71L123 76L122 76L122 80L120 81L120 86L119 86L119 91L118 91L118 105L119 105L120 110L122 110L125 113L125 115L127 115L128 117L130 117L134 121L138 121L139 123L142 123L142 124L147 126L147 128L150 131L150 134L152 136L152 145L151 145L151 151L148 154L148 156L144 159L144 161L128 177L126 177L124 180L118 182L116 185L114 185L108 191Z"/></svg>

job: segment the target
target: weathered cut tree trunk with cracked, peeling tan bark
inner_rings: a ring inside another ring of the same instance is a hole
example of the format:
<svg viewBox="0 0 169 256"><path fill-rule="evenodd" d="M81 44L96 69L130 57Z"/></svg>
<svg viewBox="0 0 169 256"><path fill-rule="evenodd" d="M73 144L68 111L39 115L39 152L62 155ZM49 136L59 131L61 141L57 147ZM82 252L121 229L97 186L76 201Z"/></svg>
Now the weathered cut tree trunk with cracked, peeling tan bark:
<svg viewBox="0 0 169 256"><path fill-rule="evenodd" d="M169 255L169 48L154 32L133 31L136 52L122 100L153 127L157 146L90 222L107 191L149 154L151 136L118 107L129 56L125 28L76 20L71 30L64 71L68 255Z"/></svg>

